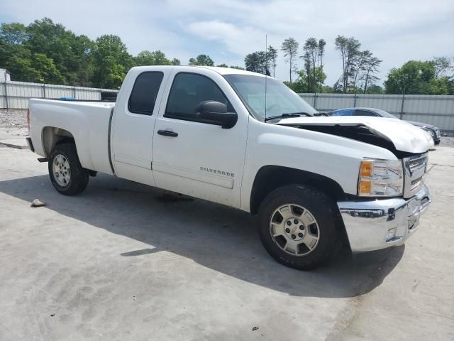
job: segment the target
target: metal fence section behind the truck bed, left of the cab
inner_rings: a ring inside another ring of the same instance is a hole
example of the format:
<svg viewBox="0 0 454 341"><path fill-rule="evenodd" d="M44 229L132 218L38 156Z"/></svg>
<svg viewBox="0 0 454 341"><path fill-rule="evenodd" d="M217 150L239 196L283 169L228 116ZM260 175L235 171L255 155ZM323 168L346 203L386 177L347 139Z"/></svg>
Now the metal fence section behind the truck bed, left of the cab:
<svg viewBox="0 0 454 341"><path fill-rule="evenodd" d="M101 100L101 92L118 92L94 87L71 87L29 82L0 83L0 109L27 109L30 98L73 97L88 101Z"/></svg>

